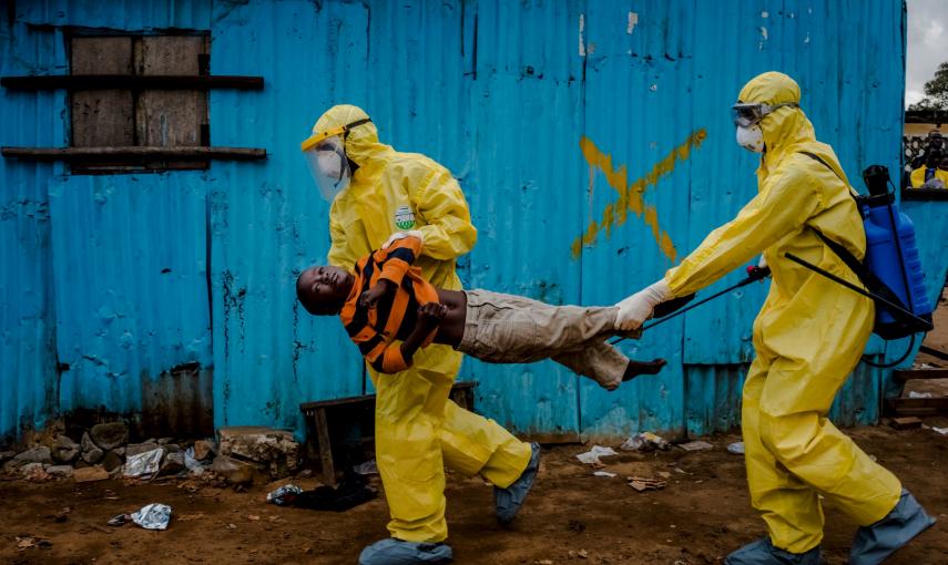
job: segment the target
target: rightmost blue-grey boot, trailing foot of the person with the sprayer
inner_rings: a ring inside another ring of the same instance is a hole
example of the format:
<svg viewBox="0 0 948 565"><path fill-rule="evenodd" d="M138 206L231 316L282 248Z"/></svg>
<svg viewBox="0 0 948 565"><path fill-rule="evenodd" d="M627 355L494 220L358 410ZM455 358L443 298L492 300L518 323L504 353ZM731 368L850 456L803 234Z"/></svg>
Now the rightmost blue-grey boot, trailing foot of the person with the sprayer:
<svg viewBox="0 0 948 565"><path fill-rule="evenodd" d="M935 524L915 496L905 489L896 507L886 517L856 531L849 565L876 565L886 561L896 549Z"/></svg>

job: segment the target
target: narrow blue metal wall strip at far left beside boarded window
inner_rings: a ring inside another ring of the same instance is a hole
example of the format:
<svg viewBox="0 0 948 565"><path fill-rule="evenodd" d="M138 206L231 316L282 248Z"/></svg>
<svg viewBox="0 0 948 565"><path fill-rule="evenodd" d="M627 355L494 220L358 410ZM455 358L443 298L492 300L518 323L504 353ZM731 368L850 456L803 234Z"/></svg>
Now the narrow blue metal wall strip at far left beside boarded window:
<svg viewBox="0 0 948 565"><path fill-rule="evenodd" d="M0 24L0 73L60 71L61 38L22 22ZM3 145L59 145L62 95L3 93ZM0 439L41 424L59 408L50 208L53 166L0 160Z"/></svg>

